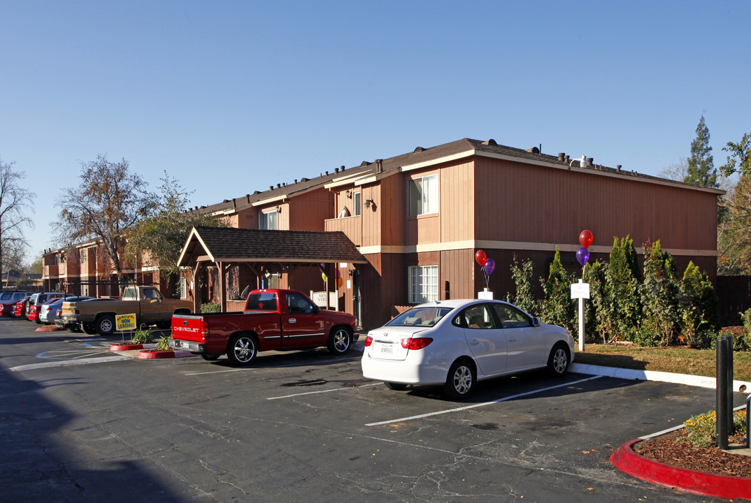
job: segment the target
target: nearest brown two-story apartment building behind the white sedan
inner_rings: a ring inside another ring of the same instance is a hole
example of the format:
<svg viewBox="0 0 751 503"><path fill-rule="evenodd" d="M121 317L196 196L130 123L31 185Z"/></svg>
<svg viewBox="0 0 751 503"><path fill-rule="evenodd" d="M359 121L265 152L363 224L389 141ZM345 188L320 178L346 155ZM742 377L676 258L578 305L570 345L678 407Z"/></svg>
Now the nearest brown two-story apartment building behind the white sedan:
<svg viewBox="0 0 751 503"><path fill-rule="evenodd" d="M325 271L343 280L333 282L340 307L368 328L388 321L395 306L475 297L485 287L474 260L478 249L496 262L489 281L496 298L513 288L514 256L534 262L535 278L547 276L559 246L564 262L577 270L584 229L594 235L592 260L607 258L614 236L632 236L640 253L642 243L660 239L681 270L693 261L713 279L719 194L592 158L463 138L193 210L225 215L230 227L342 231L367 264L338 262ZM182 296L216 302L218 285L228 300L260 285L322 288L317 267L225 264L219 281L217 265L204 267L198 281L188 271Z"/></svg>

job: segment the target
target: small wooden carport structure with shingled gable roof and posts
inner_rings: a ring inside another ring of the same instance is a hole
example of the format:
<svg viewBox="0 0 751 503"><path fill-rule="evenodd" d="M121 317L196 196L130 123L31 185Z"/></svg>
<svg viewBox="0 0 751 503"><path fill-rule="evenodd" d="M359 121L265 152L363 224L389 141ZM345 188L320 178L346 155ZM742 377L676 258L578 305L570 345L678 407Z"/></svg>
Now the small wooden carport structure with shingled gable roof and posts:
<svg viewBox="0 0 751 503"><path fill-rule="evenodd" d="M288 273L301 265L320 266L343 262L368 263L341 231L193 227L182 247L177 265L190 267L194 279L198 278L202 268L210 264L216 265L219 270L219 303L224 312L227 311L225 272L230 267L248 267L255 274L256 288L260 288L263 267L276 266ZM327 295L329 283L327 282ZM201 301L195 291L193 305L194 312L198 312Z"/></svg>

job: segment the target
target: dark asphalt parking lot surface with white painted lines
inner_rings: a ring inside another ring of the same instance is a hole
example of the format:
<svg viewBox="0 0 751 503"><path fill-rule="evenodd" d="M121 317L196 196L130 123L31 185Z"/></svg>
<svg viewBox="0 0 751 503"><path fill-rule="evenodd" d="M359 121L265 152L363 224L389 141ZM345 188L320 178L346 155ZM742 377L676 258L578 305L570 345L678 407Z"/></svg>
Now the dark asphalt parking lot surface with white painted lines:
<svg viewBox="0 0 751 503"><path fill-rule="evenodd" d="M234 369L37 327L0 319L2 501L713 501L608 461L713 390L531 373L451 402L363 379L358 351Z"/></svg>

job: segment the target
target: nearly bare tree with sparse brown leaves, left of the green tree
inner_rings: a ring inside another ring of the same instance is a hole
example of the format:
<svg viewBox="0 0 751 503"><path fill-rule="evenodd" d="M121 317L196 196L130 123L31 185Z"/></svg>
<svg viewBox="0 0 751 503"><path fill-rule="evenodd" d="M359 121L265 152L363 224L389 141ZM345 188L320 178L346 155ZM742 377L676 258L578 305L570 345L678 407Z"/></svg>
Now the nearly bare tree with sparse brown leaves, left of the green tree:
<svg viewBox="0 0 751 503"><path fill-rule="evenodd" d="M155 197L148 183L128 170L128 161L81 163L81 183L66 188L56 206L60 210L58 238L65 245L95 239L99 254L118 279L122 279L122 251L125 237L149 215Z"/></svg>

